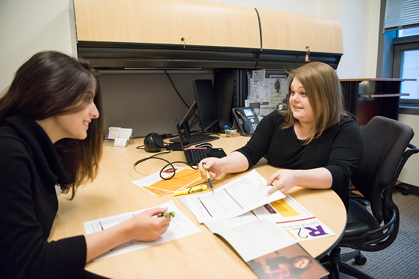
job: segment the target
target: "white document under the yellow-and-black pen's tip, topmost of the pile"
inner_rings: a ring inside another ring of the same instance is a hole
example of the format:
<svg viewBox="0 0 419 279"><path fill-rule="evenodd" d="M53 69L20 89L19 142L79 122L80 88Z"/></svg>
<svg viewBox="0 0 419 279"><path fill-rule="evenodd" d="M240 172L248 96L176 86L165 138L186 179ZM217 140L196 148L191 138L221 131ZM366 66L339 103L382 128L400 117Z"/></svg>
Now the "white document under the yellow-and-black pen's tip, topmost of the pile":
<svg viewBox="0 0 419 279"><path fill-rule="evenodd" d="M185 197L200 223L233 218L252 209L285 198L280 191L267 195L271 186L257 171L232 181L213 192Z"/></svg>

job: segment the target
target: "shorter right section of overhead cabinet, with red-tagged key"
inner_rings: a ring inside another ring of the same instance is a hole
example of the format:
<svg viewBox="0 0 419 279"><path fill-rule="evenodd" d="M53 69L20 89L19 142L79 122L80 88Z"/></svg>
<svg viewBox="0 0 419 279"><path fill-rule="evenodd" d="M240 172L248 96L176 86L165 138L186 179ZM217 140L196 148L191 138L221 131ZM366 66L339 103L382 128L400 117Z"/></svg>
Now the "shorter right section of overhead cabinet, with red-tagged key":
<svg viewBox="0 0 419 279"><path fill-rule="evenodd" d="M343 35L337 20L301 14L256 9L260 17L262 51L258 66L309 60L336 68L343 54ZM308 48L306 48L308 47Z"/></svg>

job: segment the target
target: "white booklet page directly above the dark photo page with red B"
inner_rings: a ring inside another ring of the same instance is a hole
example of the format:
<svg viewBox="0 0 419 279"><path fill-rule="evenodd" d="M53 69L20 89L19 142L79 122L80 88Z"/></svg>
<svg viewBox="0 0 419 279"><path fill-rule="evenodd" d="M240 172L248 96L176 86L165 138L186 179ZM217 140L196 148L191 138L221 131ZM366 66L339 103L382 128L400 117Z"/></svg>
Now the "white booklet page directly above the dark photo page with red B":
<svg viewBox="0 0 419 279"><path fill-rule="evenodd" d="M297 243L289 233L280 231L269 220L258 220L216 232L245 262Z"/></svg>

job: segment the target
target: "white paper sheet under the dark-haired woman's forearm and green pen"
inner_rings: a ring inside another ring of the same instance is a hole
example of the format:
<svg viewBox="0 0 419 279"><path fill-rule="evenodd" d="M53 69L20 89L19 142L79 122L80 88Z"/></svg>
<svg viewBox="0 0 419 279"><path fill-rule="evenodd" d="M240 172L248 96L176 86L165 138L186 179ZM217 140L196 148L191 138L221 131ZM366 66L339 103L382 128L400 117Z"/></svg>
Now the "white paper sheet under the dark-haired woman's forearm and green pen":
<svg viewBox="0 0 419 279"><path fill-rule="evenodd" d="M96 258L95 261L103 260L106 258L110 258L110 257L117 256L120 254L128 253L128 252L132 252L132 251L139 250L142 248L151 247L153 245L157 245L160 243L168 242L174 239L178 239L184 236L201 232L201 229L199 229L188 217L186 217L182 213L182 211L180 211L176 207L173 201L163 203L162 205L159 205L156 207L168 207L169 212L175 213L175 216L172 217L172 220L170 221L170 225L166 233L163 233L158 239L156 239L153 242L134 240L134 241L123 243L111 249L110 251L102 254L101 256ZM92 221L86 221L83 223L84 230L86 234L97 233L102 230L111 228L131 217L134 217L135 215L143 212L144 210L147 210L147 209L124 213L124 214L116 215L112 217L96 219Z"/></svg>

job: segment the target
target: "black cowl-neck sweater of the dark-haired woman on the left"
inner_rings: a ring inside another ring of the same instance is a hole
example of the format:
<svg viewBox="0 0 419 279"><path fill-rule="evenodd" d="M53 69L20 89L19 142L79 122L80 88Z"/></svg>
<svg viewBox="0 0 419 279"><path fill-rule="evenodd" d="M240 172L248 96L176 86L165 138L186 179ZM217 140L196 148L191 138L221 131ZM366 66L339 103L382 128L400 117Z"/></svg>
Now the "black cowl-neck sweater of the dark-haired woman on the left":
<svg viewBox="0 0 419 279"><path fill-rule="evenodd" d="M32 119L0 124L0 274L2 278L77 278L83 235L47 242L58 210L55 185L74 179L45 131Z"/></svg>

